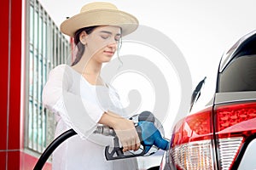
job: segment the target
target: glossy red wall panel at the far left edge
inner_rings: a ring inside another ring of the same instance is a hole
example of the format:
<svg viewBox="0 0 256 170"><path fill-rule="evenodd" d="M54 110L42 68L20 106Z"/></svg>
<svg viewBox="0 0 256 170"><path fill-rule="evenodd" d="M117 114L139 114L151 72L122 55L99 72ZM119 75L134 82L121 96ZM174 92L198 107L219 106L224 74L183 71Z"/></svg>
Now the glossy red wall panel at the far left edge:
<svg viewBox="0 0 256 170"><path fill-rule="evenodd" d="M25 0L24 0L25 1ZM20 106L22 0L1 1L0 169L32 169L36 157L24 152L24 120ZM49 164L44 169L50 169Z"/></svg>

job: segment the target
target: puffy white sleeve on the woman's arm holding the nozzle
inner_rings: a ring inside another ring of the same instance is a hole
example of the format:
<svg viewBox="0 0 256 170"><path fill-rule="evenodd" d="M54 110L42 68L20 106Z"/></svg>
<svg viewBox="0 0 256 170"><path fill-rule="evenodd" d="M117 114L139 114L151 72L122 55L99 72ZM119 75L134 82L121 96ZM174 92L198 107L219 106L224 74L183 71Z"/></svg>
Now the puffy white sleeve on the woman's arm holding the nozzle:
<svg viewBox="0 0 256 170"><path fill-rule="evenodd" d="M49 72L43 89L43 104L49 111L59 114L68 127L87 139L96 129L104 113L102 107L70 93L73 77L67 66L59 65Z"/></svg>

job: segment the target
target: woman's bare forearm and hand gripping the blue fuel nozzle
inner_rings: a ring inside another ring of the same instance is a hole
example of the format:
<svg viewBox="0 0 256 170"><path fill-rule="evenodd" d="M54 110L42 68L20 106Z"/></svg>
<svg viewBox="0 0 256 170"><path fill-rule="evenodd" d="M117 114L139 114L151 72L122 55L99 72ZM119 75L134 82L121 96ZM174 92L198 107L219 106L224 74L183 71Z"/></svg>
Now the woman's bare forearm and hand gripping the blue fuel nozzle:
<svg viewBox="0 0 256 170"><path fill-rule="evenodd" d="M112 112L106 112L102 115L99 123L113 127L114 132L123 145L123 151L138 150L140 139L138 137L134 123L131 120L118 116Z"/></svg>

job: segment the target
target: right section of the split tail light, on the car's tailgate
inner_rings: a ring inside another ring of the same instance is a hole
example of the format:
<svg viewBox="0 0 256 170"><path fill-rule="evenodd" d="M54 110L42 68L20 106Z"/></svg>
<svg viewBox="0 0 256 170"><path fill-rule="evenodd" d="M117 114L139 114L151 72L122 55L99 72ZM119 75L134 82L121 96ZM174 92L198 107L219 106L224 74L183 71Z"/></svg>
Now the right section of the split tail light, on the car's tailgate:
<svg viewBox="0 0 256 170"><path fill-rule="evenodd" d="M256 103L215 108L219 167L229 170L249 136L256 133Z"/></svg>

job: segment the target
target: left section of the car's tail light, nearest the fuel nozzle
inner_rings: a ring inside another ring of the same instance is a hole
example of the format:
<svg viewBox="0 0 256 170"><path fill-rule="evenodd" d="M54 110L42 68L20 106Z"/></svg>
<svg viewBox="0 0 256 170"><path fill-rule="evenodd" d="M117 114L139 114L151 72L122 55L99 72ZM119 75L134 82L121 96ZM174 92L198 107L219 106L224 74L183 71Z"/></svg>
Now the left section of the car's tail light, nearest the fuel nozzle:
<svg viewBox="0 0 256 170"><path fill-rule="evenodd" d="M212 169L211 113L207 108L177 123L170 150L177 169Z"/></svg>

